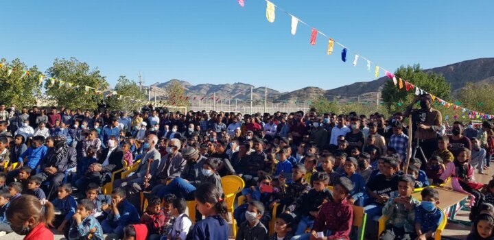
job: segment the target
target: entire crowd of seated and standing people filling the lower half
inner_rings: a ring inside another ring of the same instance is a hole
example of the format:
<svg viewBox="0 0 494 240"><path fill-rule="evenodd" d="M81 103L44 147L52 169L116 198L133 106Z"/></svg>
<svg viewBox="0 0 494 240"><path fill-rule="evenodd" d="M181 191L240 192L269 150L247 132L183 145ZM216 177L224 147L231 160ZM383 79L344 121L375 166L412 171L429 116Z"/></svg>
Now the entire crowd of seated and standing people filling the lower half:
<svg viewBox="0 0 494 240"><path fill-rule="evenodd" d="M469 239L491 239L494 181L475 182L473 173L489 169L493 124L455 121L445 134L431 103L420 95L390 117L152 106L130 117L0 105L0 231L25 239L53 239L48 228L67 239L228 239L235 219L236 239L350 239L354 205L368 215L368 239L430 239L445 216L429 186L450 180L471 195ZM408 156L409 138L423 154ZM122 178L119 170L132 165ZM222 187L231 175L244 180L246 200L233 216ZM416 188L424 188L421 201ZM191 200L195 219L185 213ZM388 221L377 236L381 215Z"/></svg>

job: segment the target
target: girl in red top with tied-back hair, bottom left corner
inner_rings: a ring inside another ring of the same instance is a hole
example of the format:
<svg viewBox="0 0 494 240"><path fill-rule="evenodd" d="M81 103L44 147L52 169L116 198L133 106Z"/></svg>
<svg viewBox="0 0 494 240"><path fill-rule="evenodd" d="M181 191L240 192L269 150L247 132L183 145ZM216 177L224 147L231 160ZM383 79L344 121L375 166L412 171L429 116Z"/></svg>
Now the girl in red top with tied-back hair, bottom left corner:
<svg viewBox="0 0 494 240"><path fill-rule="evenodd" d="M10 202L7 219L18 235L27 235L24 240L54 239L47 228L54 219L54 206L50 202L41 204L32 195L22 195Z"/></svg>

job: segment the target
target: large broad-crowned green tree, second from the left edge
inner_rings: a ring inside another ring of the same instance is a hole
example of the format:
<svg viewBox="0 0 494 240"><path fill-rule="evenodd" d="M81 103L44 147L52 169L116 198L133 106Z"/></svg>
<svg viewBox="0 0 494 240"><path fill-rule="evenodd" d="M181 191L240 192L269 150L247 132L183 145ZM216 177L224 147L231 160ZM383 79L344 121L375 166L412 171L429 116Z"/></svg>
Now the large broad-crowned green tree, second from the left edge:
<svg viewBox="0 0 494 240"><path fill-rule="evenodd" d="M69 60L56 58L53 66L47 70L47 75L73 84L72 86L68 86L68 84L61 86L60 82L56 82L54 86L51 86L50 81L45 84L46 94L54 99L58 106L65 106L66 108L95 109L98 101L102 99L102 95L97 94L92 89L86 91L85 86L96 88L98 91L108 89L105 77L100 75L97 68L91 69L89 64L80 62L75 58Z"/></svg>

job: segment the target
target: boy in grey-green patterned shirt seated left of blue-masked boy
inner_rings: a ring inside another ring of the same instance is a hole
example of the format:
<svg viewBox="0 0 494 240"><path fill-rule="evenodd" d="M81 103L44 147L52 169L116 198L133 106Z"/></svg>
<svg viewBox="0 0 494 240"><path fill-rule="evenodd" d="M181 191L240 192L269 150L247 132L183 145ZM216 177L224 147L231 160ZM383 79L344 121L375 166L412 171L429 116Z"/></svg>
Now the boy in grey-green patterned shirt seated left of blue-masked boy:
<svg viewBox="0 0 494 240"><path fill-rule="evenodd" d="M389 219L386 222L386 231L381 234L380 239L415 238L415 208L420 202L412 197L414 184L415 180L410 176L399 177L398 191L391 193L382 210L382 214L388 216Z"/></svg>

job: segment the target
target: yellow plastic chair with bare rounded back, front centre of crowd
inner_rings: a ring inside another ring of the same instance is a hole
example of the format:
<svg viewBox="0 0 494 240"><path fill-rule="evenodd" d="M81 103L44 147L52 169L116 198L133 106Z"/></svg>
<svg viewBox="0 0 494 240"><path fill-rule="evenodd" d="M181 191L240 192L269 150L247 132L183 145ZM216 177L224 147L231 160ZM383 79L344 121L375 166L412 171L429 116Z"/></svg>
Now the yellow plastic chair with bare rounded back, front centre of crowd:
<svg viewBox="0 0 494 240"><path fill-rule="evenodd" d="M228 175L222 177L222 186L224 191L224 201L228 208L228 214L231 213L233 237L237 237L237 224L233 217L233 206L235 204L235 196L245 187L245 182L239 176Z"/></svg>

